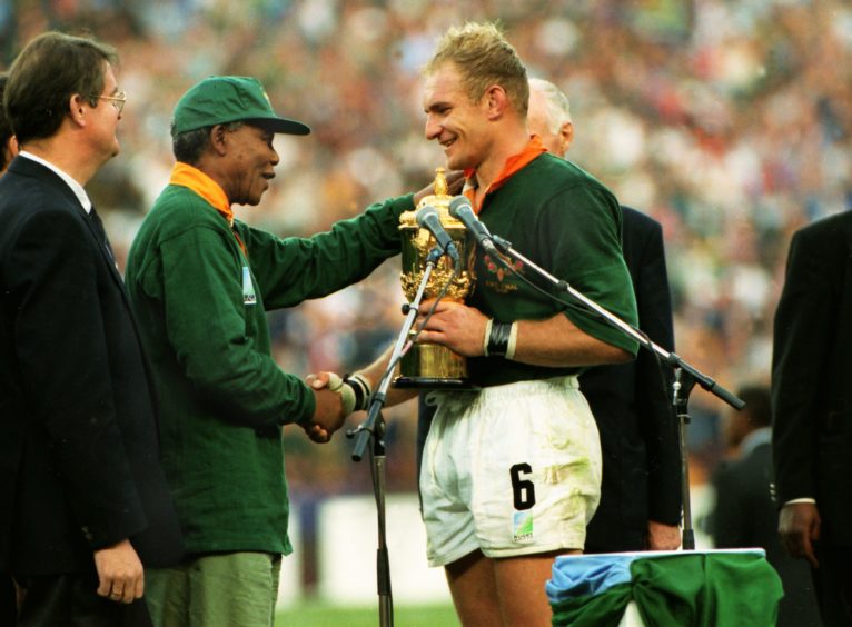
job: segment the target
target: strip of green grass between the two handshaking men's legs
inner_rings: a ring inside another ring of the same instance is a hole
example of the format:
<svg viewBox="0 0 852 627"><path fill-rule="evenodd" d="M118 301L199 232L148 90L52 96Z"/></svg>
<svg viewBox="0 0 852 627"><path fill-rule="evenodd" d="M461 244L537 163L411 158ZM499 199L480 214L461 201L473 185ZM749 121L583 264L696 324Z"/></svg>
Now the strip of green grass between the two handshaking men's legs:
<svg viewBox="0 0 852 627"><path fill-rule="evenodd" d="M276 627L378 627L378 607L340 607L305 604L275 616ZM394 608L395 627L458 627L453 606L399 606Z"/></svg>

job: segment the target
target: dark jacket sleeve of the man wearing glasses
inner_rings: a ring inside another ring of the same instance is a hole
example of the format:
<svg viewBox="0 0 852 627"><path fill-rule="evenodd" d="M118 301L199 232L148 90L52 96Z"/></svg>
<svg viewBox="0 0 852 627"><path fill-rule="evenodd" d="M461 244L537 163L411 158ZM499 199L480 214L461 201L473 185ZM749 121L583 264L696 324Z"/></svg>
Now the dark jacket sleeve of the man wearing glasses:
<svg viewBox="0 0 852 627"><path fill-rule="evenodd" d="M116 424L97 279L106 261L81 218L67 208L33 213L9 267L18 275L16 351L34 404L29 415L43 424L68 504L97 549L147 521Z"/></svg>

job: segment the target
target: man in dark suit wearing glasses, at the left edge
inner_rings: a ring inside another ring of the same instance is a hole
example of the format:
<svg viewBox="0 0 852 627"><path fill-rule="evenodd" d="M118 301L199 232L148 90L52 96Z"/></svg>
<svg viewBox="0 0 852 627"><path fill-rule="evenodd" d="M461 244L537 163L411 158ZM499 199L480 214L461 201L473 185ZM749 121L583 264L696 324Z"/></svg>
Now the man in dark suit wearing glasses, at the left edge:
<svg viewBox="0 0 852 627"><path fill-rule="evenodd" d="M0 179L0 573L26 589L23 625L148 624L143 568L181 553L135 321L82 187L119 151L115 62L44 33L4 94L21 152Z"/></svg>

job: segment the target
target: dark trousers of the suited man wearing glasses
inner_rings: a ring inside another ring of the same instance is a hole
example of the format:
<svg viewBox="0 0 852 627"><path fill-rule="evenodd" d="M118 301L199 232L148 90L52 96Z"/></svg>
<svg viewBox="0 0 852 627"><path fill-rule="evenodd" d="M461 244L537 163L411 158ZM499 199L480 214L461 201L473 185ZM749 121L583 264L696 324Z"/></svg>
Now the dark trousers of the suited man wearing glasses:
<svg viewBox="0 0 852 627"><path fill-rule="evenodd" d="M18 627L151 627L145 599L129 605L97 594L93 575L29 577Z"/></svg>

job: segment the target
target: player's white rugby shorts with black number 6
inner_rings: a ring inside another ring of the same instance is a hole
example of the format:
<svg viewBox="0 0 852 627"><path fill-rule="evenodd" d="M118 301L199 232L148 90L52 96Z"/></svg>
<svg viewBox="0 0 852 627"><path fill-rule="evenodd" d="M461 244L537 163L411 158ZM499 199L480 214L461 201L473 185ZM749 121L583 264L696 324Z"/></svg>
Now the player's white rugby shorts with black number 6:
<svg viewBox="0 0 852 627"><path fill-rule="evenodd" d="M582 549L601 498L601 444L577 378L432 392L420 469L430 566L476 550Z"/></svg>

